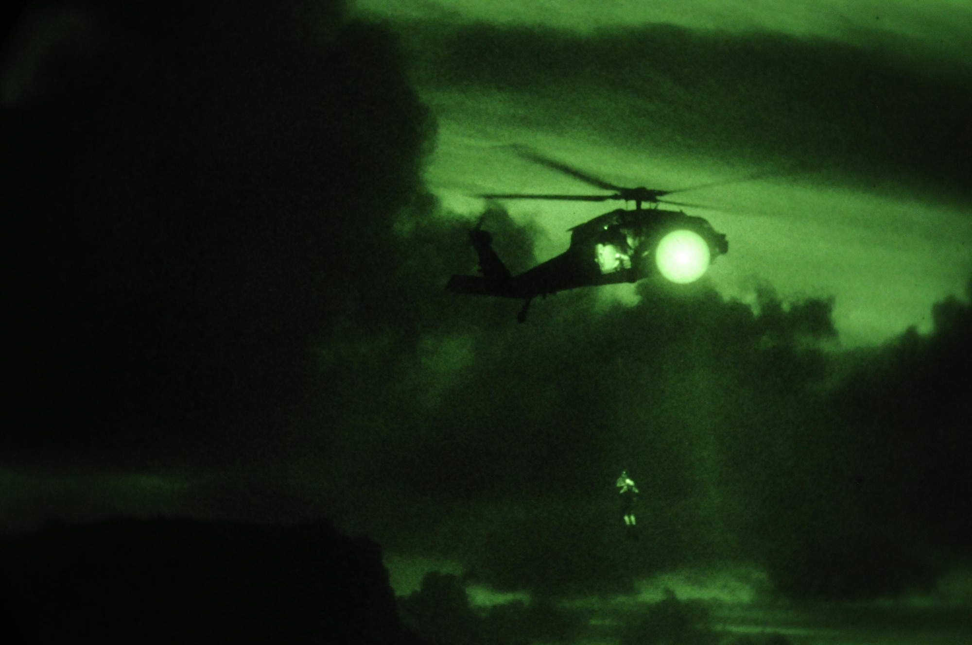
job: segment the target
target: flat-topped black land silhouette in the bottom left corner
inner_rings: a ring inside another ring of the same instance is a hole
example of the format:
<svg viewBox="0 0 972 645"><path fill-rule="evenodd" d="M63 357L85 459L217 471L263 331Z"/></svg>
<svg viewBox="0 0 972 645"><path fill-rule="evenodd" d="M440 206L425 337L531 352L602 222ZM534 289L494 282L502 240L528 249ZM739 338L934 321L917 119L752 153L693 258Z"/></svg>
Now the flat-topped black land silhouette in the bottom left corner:
<svg viewBox="0 0 972 645"><path fill-rule="evenodd" d="M325 522L52 523L4 539L0 571L0 635L24 644L421 643L378 545Z"/></svg>

